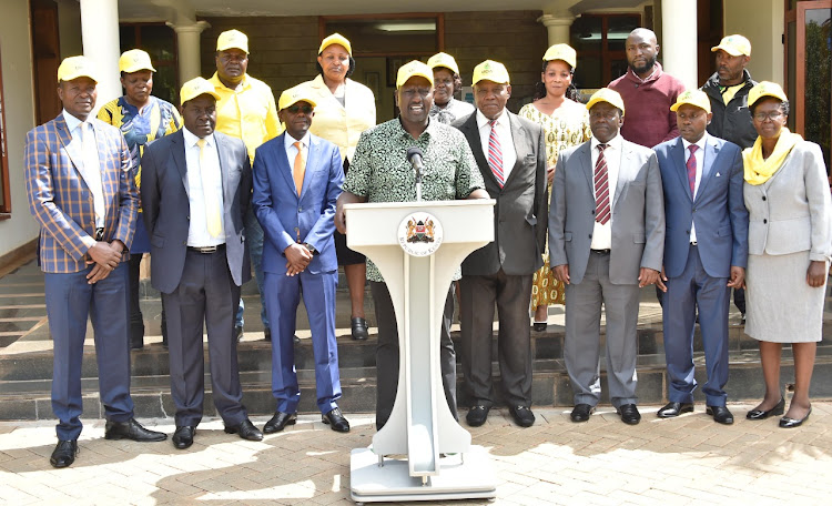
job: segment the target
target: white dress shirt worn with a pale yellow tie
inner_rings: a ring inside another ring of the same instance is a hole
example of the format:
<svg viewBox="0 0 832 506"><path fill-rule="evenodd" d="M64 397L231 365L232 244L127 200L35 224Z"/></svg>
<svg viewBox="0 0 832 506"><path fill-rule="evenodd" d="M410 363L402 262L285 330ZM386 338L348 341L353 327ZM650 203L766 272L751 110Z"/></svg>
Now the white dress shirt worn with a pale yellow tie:
<svg viewBox="0 0 832 506"><path fill-rule="evenodd" d="M185 163L187 164L187 201L191 206L191 221L187 229L187 245L195 247L215 246L225 243L225 235L212 237L207 231L204 191L215 192L220 205L221 230L225 230L223 183L220 169L220 154L216 152L214 134L205 138L205 166L200 166L199 136L186 128L182 129L185 142ZM204 185L204 190L203 190Z"/></svg>

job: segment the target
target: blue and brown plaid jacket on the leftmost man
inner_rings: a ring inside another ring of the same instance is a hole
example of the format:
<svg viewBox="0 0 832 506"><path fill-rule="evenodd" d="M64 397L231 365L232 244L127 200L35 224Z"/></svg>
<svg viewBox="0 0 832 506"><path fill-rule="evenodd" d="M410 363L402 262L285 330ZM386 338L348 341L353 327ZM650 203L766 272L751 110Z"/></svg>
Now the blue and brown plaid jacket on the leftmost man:
<svg viewBox="0 0 832 506"><path fill-rule="evenodd" d="M101 161L104 241L129 249L135 232L139 198L131 176L130 150L119 129L90 118ZM70 145L63 113L26 136L26 186L29 210L40 223L40 265L51 273L87 269L87 251L95 240L93 196L81 175L83 153Z"/></svg>

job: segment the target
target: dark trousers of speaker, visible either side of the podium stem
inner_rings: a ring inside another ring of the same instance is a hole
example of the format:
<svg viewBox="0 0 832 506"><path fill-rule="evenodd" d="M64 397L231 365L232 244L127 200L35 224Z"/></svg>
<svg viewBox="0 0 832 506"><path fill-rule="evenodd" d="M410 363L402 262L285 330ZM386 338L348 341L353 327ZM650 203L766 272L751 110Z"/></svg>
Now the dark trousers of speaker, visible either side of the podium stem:
<svg viewBox="0 0 832 506"><path fill-rule="evenodd" d="M398 392L398 324L393 300L386 283L369 282L373 303L378 323L378 345L376 347L376 429L381 431L393 413ZM450 323L454 320L454 283L450 283L445 298L445 312L439 330L439 367L445 401L454 419L456 412L456 352L450 341Z"/></svg>

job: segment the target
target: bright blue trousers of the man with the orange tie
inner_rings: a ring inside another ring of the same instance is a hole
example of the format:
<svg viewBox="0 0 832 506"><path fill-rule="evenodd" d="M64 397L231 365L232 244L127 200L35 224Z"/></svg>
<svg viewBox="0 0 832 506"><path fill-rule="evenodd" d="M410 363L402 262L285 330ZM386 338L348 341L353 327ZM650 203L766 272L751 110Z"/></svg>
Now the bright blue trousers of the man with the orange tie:
<svg viewBox="0 0 832 506"><path fill-rule="evenodd" d="M311 274L304 271L294 276L265 273L263 295L268 321L277 331L272 334L272 394L277 399L277 411L297 412L301 389L295 372L295 326L297 305L303 296L312 331L312 352L315 357L315 387L317 407L322 414L338 407L341 375L338 373L338 344L335 340L335 289L338 273Z"/></svg>

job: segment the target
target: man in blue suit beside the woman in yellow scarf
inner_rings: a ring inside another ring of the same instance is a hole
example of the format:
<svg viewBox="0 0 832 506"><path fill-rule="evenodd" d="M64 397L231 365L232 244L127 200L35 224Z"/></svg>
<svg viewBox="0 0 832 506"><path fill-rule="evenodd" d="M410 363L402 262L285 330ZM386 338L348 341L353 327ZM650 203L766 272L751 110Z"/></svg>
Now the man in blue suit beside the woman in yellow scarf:
<svg viewBox="0 0 832 506"><path fill-rule="evenodd" d="M709 135L711 104L702 91L686 91L670 108L681 138L655 148L664 189L663 328L668 398L658 416L693 411L693 327L697 310L708 381L707 414L732 424L726 407L728 307L731 287L742 286L748 257L743 169L735 144Z"/></svg>

